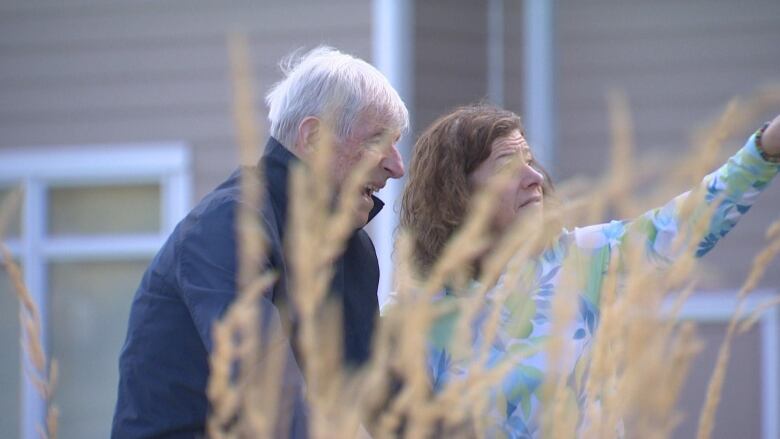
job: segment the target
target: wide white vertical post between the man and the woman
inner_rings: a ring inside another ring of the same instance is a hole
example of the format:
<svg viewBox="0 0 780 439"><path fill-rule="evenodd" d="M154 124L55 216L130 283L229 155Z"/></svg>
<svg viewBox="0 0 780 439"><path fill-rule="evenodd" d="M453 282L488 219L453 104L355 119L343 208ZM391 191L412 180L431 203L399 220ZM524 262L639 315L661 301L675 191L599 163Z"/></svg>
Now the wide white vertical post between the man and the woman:
<svg viewBox="0 0 780 439"><path fill-rule="evenodd" d="M372 16L373 64L390 81L409 108L410 123L414 107L414 1L373 0ZM403 136L398 150L408 163L412 144L412 127ZM369 226L369 233L379 258L379 303L385 302L392 289L393 234L398 226L396 207L403 180L389 180L379 196L385 208Z"/></svg>

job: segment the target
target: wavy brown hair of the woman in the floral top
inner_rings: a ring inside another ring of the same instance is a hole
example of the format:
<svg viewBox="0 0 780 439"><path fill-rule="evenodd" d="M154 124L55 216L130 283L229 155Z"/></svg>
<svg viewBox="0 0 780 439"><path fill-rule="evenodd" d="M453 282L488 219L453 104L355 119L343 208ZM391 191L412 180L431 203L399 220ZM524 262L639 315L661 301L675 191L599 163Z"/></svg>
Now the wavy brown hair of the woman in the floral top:
<svg viewBox="0 0 780 439"><path fill-rule="evenodd" d="M400 227L414 237L414 257L428 271L461 225L473 188L468 177L490 156L493 142L523 132L520 116L488 104L455 109L440 117L417 139L401 200ZM542 191L552 193L544 169Z"/></svg>

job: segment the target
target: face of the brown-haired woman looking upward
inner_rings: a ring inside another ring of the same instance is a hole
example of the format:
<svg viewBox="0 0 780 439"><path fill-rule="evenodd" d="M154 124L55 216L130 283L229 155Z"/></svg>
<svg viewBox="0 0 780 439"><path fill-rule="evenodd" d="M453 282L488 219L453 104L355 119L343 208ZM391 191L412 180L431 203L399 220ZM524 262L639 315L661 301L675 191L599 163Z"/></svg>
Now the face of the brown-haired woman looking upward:
<svg viewBox="0 0 780 439"><path fill-rule="evenodd" d="M514 161L519 163L514 164ZM530 221L542 221L542 182L544 176L533 168L533 156L520 131L499 137L491 146L490 156L469 175L469 183L483 187L490 178L505 166L517 166L513 178L501 192L495 206L493 226L505 230L522 217Z"/></svg>

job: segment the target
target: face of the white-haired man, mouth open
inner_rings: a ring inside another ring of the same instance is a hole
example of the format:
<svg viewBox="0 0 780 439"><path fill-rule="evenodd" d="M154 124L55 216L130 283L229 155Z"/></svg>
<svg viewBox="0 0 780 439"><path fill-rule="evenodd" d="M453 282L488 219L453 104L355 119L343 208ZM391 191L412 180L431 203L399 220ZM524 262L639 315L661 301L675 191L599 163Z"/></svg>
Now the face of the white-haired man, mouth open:
<svg viewBox="0 0 780 439"><path fill-rule="evenodd" d="M389 178L401 178L404 175L404 165L401 154L396 148L400 137L398 130L388 129L385 124L372 118L361 118L357 128L349 139L337 141L333 147L333 177L339 190L339 196L350 172L366 160L370 170L365 184L358 193L349 196L358 197L354 211L357 227L368 222L368 214L374 207L371 195L383 188Z"/></svg>

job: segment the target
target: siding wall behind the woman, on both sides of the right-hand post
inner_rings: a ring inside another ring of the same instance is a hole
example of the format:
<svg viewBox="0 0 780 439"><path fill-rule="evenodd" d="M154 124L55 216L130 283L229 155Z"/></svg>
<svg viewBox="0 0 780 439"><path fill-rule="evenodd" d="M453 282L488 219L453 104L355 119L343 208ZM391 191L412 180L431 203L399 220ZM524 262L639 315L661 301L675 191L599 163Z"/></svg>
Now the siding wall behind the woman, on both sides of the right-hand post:
<svg viewBox="0 0 780 439"><path fill-rule="evenodd" d="M693 128L712 121L731 98L778 79L777 2L559 0L555 7L557 139L552 171L560 182L595 178L607 170L610 88L624 90L630 100L637 153L670 157L688 148ZM523 5L507 0L504 9L504 102L523 115ZM416 14L419 134L452 107L485 97L488 29L485 4L417 2ZM773 112L776 106L764 118ZM734 133L724 148L735 151L752 129ZM776 219L779 185L769 188L703 260L713 280L702 282L702 290L739 288L764 243L765 229ZM762 282L774 291L780 285L777 267L773 262ZM724 329L723 323L700 325L705 348L683 389L685 420L676 437L696 431ZM735 341L714 437L760 437L760 349L755 330Z"/></svg>

